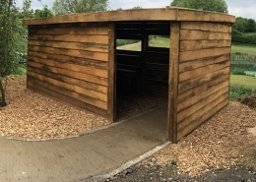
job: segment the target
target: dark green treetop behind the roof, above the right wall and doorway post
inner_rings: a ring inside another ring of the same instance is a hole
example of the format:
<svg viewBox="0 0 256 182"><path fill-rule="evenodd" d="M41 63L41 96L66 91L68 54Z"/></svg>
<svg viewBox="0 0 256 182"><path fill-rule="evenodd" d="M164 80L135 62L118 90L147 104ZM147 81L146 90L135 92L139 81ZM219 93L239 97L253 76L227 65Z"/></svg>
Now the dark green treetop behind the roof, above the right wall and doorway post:
<svg viewBox="0 0 256 182"><path fill-rule="evenodd" d="M197 10L227 13L224 0L173 0L170 6L192 8Z"/></svg>

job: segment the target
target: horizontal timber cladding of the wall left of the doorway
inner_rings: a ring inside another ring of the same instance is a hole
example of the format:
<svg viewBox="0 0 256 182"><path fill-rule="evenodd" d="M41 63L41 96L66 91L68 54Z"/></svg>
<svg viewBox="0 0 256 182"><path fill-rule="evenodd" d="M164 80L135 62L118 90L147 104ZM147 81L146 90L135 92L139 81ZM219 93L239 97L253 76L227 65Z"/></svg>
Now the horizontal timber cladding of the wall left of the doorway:
<svg viewBox="0 0 256 182"><path fill-rule="evenodd" d="M29 27L28 88L107 114L108 24Z"/></svg>

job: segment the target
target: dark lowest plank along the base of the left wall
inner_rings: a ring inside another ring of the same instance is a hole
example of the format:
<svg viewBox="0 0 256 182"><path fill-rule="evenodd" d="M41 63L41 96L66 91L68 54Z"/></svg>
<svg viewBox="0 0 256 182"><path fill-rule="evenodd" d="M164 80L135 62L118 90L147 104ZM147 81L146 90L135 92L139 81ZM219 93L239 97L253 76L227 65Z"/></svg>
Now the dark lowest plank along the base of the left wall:
<svg viewBox="0 0 256 182"><path fill-rule="evenodd" d="M87 97L85 95L79 94L73 91L67 91L63 88L58 88L56 86L50 85L49 83L41 82L30 75L27 77L28 89L32 91L37 91L43 93L47 96L51 96L54 99L64 101L80 108L85 108L93 113L106 116L106 103L100 100Z"/></svg>

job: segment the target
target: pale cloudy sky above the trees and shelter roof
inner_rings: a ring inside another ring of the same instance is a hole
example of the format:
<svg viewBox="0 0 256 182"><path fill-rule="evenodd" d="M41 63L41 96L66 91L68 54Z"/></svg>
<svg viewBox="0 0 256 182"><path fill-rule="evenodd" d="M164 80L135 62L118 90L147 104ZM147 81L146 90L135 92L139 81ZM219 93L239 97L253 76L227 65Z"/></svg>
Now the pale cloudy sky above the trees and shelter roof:
<svg viewBox="0 0 256 182"><path fill-rule="evenodd" d="M54 0L32 0L32 9L41 9L44 5L52 7ZM22 2L22 0L18 0ZM142 8L164 8L168 6L171 0L108 0L109 9L118 8L130 9L136 6ZM255 0L225 0L228 7L228 14L235 17L242 17L256 20L256 1ZM18 3L19 4L19 3Z"/></svg>

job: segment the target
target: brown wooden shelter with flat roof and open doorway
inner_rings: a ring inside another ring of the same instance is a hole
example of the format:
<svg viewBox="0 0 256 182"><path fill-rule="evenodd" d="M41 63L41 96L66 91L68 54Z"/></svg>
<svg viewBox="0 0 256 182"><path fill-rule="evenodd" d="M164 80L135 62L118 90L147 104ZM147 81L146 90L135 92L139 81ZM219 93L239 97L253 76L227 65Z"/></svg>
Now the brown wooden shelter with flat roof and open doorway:
<svg viewBox="0 0 256 182"><path fill-rule="evenodd" d="M180 8L25 20L27 85L114 122L119 71L128 89L143 90L146 81L165 84L167 139L177 142L228 103L234 20ZM151 35L169 37L169 47L150 47ZM141 50L118 50L116 39L141 40Z"/></svg>

